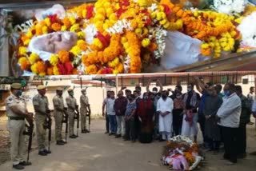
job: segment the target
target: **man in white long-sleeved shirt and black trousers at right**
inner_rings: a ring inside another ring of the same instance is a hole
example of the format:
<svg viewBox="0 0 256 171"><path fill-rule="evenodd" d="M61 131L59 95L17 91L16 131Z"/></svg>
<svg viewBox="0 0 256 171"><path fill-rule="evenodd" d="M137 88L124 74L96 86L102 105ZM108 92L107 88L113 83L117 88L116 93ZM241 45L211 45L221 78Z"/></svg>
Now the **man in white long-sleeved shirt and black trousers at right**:
<svg viewBox="0 0 256 171"><path fill-rule="evenodd" d="M222 128L224 141L224 159L228 160L227 165L234 165L237 162L238 147L236 133L239 127L242 103L235 93L235 85L227 83L224 87L223 103L218 109L218 125Z"/></svg>

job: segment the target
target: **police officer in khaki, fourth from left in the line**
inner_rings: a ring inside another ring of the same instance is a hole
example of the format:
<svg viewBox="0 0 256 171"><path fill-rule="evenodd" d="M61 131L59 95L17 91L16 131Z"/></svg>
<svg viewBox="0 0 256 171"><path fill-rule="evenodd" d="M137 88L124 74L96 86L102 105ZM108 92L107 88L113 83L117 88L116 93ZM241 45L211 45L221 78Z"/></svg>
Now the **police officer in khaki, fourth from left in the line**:
<svg viewBox="0 0 256 171"><path fill-rule="evenodd" d="M70 138L76 138L74 134L74 114L78 113L77 100L74 98L74 90L68 89L69 96L66 97L67 113L69 115L69 134Z"/></svg>

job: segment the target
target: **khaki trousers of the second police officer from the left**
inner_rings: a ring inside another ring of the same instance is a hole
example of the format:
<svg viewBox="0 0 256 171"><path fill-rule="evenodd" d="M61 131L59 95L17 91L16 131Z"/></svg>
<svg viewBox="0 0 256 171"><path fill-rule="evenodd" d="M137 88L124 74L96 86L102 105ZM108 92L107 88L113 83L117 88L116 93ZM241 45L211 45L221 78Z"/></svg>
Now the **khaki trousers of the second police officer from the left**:
<svg viewBox="0 0 256 171"><path fill-rule="evenodd" d="M35 125L37 128L37 139L38 139L38 151L46 149L46 129L43 125L46 121L46 115L36 114Z"/></svg>

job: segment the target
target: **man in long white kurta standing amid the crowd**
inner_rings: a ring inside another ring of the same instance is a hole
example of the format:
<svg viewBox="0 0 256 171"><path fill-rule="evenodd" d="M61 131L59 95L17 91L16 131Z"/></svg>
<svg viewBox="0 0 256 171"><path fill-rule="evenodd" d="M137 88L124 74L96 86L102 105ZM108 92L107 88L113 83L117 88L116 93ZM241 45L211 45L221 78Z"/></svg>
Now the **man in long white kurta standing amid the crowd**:
<svg viewBox="0 0 256 171"><path fill-rule="evenodd" d="M162 141L170 140L174 109L174 101L167 97L167 91L162 92L162 97L158 100L157 112L159 113L159 132L162 133Z"/></svg>

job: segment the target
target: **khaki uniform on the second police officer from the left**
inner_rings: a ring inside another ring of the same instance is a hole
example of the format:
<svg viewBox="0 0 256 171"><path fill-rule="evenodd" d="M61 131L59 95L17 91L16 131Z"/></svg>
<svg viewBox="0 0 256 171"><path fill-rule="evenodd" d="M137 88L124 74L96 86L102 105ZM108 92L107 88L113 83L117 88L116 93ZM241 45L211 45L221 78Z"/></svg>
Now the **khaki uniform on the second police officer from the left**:
<svg viewBox="0 0 256 171"><path fill-rule="evenodd" d="M35 124L37 129L37 139L38 139L38 150L42 151L46 149L46 129L43 128L43 124L46 121L46 111L49 109L49 102L46 96L42 96L41 94L37 94L33 97L33 105L34 108L38 107L39 111L44 113L40 113L35 111Z"/></svg>

